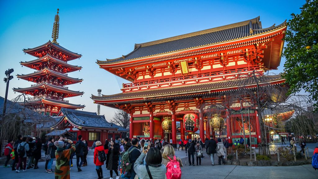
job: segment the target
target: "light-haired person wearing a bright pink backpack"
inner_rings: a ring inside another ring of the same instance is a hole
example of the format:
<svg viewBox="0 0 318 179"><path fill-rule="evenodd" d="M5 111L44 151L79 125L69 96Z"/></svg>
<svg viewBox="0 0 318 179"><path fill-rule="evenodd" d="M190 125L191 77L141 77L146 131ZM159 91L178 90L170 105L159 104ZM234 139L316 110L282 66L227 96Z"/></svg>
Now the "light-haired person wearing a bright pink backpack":
<svg viewBox="0 0 318 179"><path fill-rule="evenodd" d="M171 145L163 147L162 164L166 166L167 173L166 179L180 179L181 168L183 167L182 161L176 157L175 150Z"/></svg>

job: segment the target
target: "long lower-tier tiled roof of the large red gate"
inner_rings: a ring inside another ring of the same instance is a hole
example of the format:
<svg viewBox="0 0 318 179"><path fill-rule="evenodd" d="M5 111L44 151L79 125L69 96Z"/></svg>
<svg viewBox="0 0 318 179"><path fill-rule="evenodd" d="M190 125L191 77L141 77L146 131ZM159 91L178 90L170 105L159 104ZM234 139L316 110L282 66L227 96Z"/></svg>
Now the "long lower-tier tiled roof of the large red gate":
<svg viewBox="0 0 318 179"><path fill-rule="evenodd" d="M264 75L260 83L283 83L285 79L281 75ZM255 86L256 83L251 79L245 87L248 88ZM176 87L165 87L160 89L151 90L138 90L132 92L124 92L114 95L102 95L101 97L92 95L92 99L96 102L102 101L102 103L118 104L125 103L127 101L142 102L147 99L159 100L161 98L174 98L176 96L185 96L198 93L213 93L218 91L226 91L238 88L238 80L225 80L220 82L206 82L201 84L182 85Z"/></svg>

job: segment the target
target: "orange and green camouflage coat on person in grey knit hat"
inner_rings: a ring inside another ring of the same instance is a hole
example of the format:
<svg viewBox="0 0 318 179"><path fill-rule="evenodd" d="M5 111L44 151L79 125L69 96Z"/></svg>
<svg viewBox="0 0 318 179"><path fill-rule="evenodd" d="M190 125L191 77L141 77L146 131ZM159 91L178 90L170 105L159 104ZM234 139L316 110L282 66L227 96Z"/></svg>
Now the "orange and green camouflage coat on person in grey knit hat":
<svg viewBox="0 0 318 179"><path fill-rule="evenodd" d="M61 150L61 151L60 151ZM55 152L55 178L70 179L70 157L75 152L75 144L71 145L70 149L58 149Z"/></svg>

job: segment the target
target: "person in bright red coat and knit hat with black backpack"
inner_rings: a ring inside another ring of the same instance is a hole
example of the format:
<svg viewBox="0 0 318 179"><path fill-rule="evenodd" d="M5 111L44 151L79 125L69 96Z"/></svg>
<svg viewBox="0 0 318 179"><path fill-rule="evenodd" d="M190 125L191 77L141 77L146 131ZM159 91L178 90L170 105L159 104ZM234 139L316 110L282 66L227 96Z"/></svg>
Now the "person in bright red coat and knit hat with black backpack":
<svg viewBox="0 0 318 179"><path fill-rule="evenodd" d="M96 172L98 175L98 179L103 178L103 170L102 165L104 165L104 161L106 161L106 153L104 151L104 146L101 145L100 141L95 142L96 147L94 148L94 164L96 166Z"/></svg>

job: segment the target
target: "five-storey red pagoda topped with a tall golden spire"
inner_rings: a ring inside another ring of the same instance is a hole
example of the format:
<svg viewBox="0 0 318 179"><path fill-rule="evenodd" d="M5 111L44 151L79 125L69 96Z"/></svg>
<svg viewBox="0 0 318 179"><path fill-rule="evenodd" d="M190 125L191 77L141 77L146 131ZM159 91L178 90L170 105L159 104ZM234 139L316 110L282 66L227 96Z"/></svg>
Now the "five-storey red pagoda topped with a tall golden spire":
<svg viewBox="0 0 318 179"><path fill-rule="evenodd" d="M82 109L84 105L70 104L67 97L83 95L84 92L73 91L66 85L80 83L83 80L68 76L67 73L80 70L82 67L68 64L68 61L80 58L82 55L71 52L59 45L59 9L55 15L52 32L52 42L24 49L24 53L38 59L20 62L22 66L35 69L34 73L17 75L18 78L34 82L28 88L14 88L16 92L31 95L26 106L30 106L45 115L57 115L62 107L69 109Z"/></svg>

